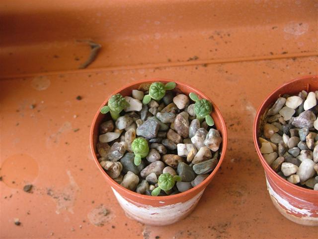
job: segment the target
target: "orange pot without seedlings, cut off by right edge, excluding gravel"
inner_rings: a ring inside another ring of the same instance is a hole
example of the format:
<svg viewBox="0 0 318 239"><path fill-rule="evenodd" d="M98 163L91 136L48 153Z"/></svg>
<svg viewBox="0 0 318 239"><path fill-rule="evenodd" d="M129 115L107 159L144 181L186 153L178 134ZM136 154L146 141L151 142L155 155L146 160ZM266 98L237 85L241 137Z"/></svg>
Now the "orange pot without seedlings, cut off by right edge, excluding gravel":
<svg viewBox="0 0 318 239"><path fill-rule="evenodd" d="M259 124L266 110L273 105L280 95L296 95L302 90L308 92L318 90L318 76L297 78L274 90L257 111L254 120L253 138L257 154L265 170L268 192L275 207L283 216L295 223L318 226L318 191L297 186L281 178L267 164L258 145Z"/></svg>

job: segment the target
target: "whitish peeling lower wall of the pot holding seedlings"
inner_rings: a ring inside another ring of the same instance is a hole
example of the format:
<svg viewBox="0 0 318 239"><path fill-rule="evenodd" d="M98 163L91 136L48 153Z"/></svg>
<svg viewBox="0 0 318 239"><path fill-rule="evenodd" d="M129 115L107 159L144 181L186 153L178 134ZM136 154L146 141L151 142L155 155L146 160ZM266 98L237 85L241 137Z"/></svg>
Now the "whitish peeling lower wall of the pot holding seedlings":
<svg viewBox="0 0 318 239"><path fill-rule="evenodd" d="M120 206L124 209L129 217L148 224L163 226L177 222L188 213L190 213L201 198L204 190L199 192L195 197L186 202L179 202L171 205L154 207L139 203L131 203L122 197L114 188L112 188ZM160 201L159 203L162 203ZM164 202L163 202L164 203Z"/></svg>

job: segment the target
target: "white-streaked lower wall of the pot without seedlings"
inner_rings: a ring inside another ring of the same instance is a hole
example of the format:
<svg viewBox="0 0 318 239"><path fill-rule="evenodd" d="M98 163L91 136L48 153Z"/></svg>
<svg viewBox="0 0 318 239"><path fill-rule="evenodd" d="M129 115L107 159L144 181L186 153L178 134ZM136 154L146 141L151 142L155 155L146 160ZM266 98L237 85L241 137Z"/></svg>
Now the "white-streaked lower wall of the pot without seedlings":
<svg viewBox="0 0 318 239"><path fill-rule="evenodd" d="M312 217L312 213L310 212L310 210L306 208L298 208L295 205L290 204L286 199L282 198L276 191L274 191L267 178L266 183L267 190L274 206L284 217L300 225L318 226L318 218ZM293 215L293 213L301 214L302 216L297 217Z"/></svg>

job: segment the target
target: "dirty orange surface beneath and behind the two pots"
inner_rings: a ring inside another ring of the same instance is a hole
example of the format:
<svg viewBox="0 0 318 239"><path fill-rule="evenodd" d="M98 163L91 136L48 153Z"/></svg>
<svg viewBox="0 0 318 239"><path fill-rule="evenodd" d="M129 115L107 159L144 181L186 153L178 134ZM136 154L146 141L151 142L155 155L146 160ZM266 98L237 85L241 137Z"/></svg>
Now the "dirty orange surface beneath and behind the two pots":
<svg viewBox="0 0 318 239"><path fill-rule="evenodd" d="M273 89L318 74L317 9L316 0L2 0L0 237L316 238L317 228L273 206L252 123ZM76 40L88 38L102 49L77 70L89 47ZM228 128L227 155L200 203L164 228L126 218L89 149L103 100L156 77L201 90ZM32 193L22 190L26 183Z"/></svg>

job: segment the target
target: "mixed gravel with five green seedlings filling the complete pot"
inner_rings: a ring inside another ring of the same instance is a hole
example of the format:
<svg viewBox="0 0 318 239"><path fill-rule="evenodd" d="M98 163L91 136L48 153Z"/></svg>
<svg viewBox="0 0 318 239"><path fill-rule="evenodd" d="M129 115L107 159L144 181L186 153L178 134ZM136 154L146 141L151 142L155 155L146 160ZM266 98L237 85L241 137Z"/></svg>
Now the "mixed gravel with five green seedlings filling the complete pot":
<svg viewBox="0 0 318 239"><path fill-rule="evenodd" d="M100 112L98 161L127 189L152 196L173 195L198 185L218 164L222 143L210 116L212 104L176 84L154 82L131 96L111 96Z"/></svg>

